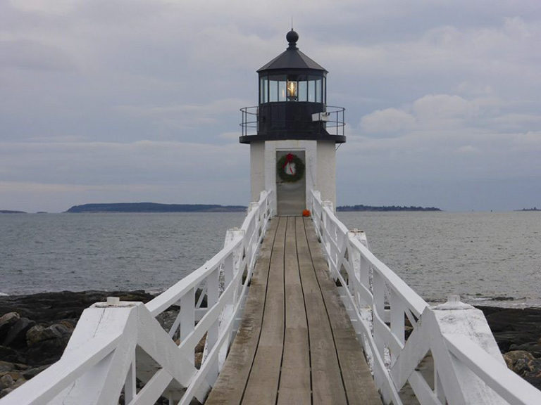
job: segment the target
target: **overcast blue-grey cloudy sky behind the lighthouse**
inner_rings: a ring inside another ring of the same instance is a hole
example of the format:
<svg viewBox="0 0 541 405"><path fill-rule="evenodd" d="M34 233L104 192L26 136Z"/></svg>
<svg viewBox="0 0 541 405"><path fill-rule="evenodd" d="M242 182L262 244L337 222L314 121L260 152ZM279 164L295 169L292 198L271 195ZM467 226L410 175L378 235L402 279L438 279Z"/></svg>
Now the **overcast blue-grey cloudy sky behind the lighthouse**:
<svg viewBox="0 0 541 405"><path fill-rule="evenodd" d="M249 203L285 50L346 108L337 203L541 207L541 1L0 1L0 209Z"/></svg>

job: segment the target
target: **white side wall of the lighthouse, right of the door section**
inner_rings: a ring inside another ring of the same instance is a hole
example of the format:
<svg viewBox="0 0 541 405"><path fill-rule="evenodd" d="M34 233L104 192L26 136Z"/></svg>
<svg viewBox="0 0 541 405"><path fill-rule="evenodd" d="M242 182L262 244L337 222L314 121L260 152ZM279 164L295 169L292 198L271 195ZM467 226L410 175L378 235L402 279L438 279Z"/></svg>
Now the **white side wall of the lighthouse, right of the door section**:
<svg viewBox="0 0 541 405"><path fill-rule="evenodd" d="M317 186L321 199L332 202L336 210L336 144L334 141L318 141Z"/></svg>

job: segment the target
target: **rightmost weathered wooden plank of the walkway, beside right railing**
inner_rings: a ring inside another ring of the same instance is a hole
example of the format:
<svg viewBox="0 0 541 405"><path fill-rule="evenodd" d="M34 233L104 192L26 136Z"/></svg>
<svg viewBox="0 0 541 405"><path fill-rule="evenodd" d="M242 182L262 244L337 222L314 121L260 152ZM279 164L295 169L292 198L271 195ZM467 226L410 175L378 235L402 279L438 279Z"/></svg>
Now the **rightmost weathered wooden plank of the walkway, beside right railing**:
<svg viewBox="0 0 541 405"><path fill-rule="evenodd" d="M313 266L318 283L321 285L323 300L332 326L336 352L349 404L381 404L380 394L375 388L363 349L356 340L344 304L340 300L335 283L329 276L327 262L323 257L321 245L318 243L313 224L309 219L304 220L304 228L306 229L306 238Z"/></svg>

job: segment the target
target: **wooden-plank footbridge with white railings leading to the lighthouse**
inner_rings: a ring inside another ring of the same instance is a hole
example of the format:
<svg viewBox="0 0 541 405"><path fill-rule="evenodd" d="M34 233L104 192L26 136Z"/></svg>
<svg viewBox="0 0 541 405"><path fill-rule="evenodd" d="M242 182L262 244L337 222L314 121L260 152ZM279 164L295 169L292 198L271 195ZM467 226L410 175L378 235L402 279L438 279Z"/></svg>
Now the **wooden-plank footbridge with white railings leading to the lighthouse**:
<svg viewBox="0 0 541 405"><path fill-rule="evenodd" d="M0 405L541 404L481 311L431 307L318 191L311 218L275 217L273 198L154 300L86 309L61 359Z"/></svg>

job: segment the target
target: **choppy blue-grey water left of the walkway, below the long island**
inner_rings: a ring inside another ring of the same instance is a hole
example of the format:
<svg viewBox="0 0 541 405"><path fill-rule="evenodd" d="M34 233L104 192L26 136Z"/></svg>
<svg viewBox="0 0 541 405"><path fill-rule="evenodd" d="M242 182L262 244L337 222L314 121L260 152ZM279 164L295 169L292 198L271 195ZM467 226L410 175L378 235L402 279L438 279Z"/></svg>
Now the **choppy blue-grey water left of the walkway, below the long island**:
<svg viewBox="0 0 541 405"><path fill-rule="evenodd" d="M163 290L223 247L244 214L1 214L0 293Z"/></svg>

